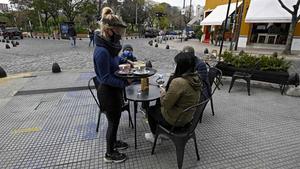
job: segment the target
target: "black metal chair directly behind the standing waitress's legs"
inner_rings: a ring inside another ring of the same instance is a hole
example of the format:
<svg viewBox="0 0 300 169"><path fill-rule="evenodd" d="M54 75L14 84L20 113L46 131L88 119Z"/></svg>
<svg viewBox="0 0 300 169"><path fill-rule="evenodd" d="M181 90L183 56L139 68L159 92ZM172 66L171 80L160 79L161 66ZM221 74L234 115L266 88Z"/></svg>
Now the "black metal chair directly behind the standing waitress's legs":
<svg viewBox="0 0 300 169"><path fill-rule="evenodd" d="M98 121L97 121L97 128L96 128L96 132L99 131L99 125L100 125L100 119L101 119L101 113L105 113L104 111L102 111L101 109L101 103L99 102L99 100L97 99L97 97L95 96L94 92L93 92L93 87L91 86L91 81L93 81L94 85L95 85L95 88L96 88L96 91L99 87L99 82L97 81L97 77L94 76L92 77L89 82L88 82L88 88L99 108L99 115L98 115ZM124 97L126 99L126 97ZM124 105L122 106L122 112L123 111L127 111L128 112L128 117L129 117L129 127L131 126L133 128L133 123L132 123L132 118L131 118L131 114L130 114L130 106L129 106L129 103L128 102L124 102Z"/></svg>

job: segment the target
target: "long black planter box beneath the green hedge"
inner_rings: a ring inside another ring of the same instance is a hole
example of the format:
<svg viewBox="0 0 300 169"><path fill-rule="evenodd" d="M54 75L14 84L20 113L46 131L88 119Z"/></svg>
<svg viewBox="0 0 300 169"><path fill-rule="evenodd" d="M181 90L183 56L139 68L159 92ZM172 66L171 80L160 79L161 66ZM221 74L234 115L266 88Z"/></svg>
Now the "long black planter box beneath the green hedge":
<svg viewBox="0 0 300 169"><path fill-rule="evenodd" d="M232 76L234 72L247 72L251 73L249 69L245 68L236 68L232 65L226 64L224 62L219 62L216 65L217 68L222 70L223 76ZM252 80L276 83L280 85L288 85L289 84L289 73L288 72L275 72L275 71L260 71L253 70L252 71Z"/></svg>

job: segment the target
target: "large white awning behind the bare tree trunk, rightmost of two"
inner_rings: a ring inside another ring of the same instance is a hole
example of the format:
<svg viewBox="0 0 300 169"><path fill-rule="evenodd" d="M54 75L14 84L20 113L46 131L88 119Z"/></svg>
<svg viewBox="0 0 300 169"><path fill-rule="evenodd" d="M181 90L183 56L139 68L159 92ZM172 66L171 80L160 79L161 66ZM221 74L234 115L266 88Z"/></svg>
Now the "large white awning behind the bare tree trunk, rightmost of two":
<svg viewBox="0 0 300 169"><path fill-rule="evenodd" d="M282 2L293 11L297 0ZM290 23L291 20L292 15L281 7L278 0L251 0L246 16L246 23Z"/></svg>

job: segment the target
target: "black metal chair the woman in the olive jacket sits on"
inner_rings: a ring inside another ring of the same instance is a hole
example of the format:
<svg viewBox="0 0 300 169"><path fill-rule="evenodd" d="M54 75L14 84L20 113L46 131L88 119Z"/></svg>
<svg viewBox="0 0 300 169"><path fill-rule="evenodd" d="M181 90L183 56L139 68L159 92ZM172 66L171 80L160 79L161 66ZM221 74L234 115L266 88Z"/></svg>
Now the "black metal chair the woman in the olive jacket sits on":
<svg viewBox="0 0 300 169"><path fill-rule="evenodd" d="M184 110L184 112L188 112L188 111L194 112L193 120L191 121L191 123L189 125L186 125L186 127L182 127L182 128L172 127L170 129L170 128L166 128L166 127L158 124L156 126L156 135L155 135L155 140L154 140L151 154L152 155L154 154L158 136L160 134L163 134L163 135L166 135L167 137L169 137L175 144L177 165L178 165L179 169L182 168L185 145L188 142L188 140L190 140L191 138L193 138L193 140L194 140L197 160L200 160L198 147L197 147L197 141L196 141L195 129L200 121L200 118L202 117L203 111L204 111L208 101L209 101L209 99ZM184 114L185 113L182 113L181 116ZM179 116L177 118L177 120L175 122L175 126L176 126L176 123L179 122L179 120L181 119L181 116Z"/></svg>

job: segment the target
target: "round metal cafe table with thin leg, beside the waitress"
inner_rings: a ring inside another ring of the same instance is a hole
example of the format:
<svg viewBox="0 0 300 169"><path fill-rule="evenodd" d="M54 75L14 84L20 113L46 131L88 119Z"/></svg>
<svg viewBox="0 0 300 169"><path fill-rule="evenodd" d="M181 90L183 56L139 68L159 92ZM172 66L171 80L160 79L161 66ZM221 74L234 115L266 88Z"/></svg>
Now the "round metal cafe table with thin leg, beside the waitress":
<svg viewBox="0 0 300 169"><path fill-rule="evenodd" d="M150 102L160 98L160 88L157 85L149 85L149 90L141 91L140 85L130 85L125 88L126 98L134 104L134 147L137 148L136 139L136 114L138 102Z"/></svg>

